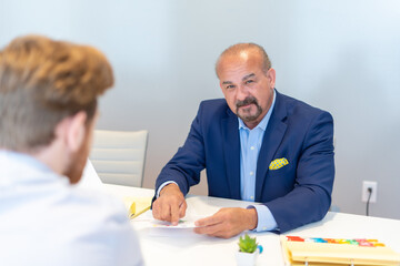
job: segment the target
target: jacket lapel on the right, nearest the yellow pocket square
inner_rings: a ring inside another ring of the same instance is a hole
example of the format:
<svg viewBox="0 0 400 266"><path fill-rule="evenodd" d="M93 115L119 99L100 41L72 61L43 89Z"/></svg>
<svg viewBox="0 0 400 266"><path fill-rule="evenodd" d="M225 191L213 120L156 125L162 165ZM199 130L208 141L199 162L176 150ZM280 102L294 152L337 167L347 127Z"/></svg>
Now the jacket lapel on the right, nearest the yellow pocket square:
<svg viewBox="0 0 400 266"><path fill-rule="evenodd" d="M256 201L261 202L263 183L267 177L269 164L272 161L287 131L287 124L282 122L287 116L287 108L282 96L277 92L277 100L270 121L262 139L261 150L257 161L256 175Z"/></svg>

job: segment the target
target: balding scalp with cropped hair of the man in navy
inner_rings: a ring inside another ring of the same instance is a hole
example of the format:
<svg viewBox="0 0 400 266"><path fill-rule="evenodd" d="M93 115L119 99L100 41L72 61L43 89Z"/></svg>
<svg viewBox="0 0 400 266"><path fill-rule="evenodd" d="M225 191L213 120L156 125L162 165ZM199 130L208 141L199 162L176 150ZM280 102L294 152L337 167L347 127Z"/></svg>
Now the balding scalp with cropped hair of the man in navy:
<svg viewBox="0 0 400 266"><path fill-rule="evenodd" d="M256 43L237 43L227 48L221 55L218 58L216 63L216 73L220 78L221 62L226 59L248 59L249 55L257 57L261 60L262 72L267 73L271 68L271 61L268 58L266 50Z"/></svg>

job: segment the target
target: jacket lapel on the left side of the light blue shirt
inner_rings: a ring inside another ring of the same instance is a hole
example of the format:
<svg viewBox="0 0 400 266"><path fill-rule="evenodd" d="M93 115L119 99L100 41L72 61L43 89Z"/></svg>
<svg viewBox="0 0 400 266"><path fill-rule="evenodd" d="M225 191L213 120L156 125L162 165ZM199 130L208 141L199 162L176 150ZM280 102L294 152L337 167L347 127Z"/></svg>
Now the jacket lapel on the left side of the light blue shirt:
<svg viewBox="0 0 400 266"><path fill-rule="evenodd" d="M240 200L240 140L238 117L228 110L221 121L224 164L231 198Z"/></svg>

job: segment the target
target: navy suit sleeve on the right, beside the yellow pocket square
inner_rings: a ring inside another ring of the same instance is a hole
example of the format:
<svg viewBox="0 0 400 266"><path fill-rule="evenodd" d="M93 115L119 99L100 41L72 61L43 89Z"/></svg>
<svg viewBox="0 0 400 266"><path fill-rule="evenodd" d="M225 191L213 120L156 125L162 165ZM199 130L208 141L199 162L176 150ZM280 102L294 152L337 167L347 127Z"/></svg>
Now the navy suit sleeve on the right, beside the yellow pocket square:
<svg viewBox="0 0 400 266"><path fill-rule="evenodd" d="M333 119L322 112L306 133L294 188L286 196L266 203L279 232L322 219L331 204L333 178Z"/></svg>

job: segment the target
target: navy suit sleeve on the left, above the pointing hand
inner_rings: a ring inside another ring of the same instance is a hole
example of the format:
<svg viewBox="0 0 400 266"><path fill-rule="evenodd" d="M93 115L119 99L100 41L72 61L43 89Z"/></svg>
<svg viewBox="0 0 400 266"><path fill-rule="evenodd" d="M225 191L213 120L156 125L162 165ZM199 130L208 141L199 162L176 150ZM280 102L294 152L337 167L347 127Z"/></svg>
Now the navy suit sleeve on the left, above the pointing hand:
<svg viewBox="0 0 400 266"><path fill-rule="evenodd" d="M199 184L200 172L206 167L201 117L202 104L200 104L183 146L179 147L174 156L161 170L156 181L156 191L164 182L173 181L186 195L190 186Z"/></svg>

